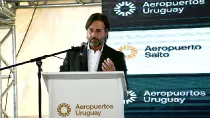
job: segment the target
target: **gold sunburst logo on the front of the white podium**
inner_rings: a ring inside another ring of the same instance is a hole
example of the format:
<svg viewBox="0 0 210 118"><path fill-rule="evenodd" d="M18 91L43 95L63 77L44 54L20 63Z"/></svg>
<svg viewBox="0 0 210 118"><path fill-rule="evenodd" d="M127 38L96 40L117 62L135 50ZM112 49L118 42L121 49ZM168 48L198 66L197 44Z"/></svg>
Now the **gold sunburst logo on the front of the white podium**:
<svg viewBox="0 0 210 118"><path fill-rule="evenodd" d="M67 117L71 113L71 108L69 104L62 103L58 105L57 108L58 115L61 117Z"/></svg>

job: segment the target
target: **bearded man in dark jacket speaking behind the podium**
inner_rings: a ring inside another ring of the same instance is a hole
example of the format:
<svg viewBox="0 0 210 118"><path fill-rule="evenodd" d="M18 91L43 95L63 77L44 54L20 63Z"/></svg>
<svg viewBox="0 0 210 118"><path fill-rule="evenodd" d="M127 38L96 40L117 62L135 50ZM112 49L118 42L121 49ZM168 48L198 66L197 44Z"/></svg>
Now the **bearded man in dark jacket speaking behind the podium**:
<svg viewBox="0 0 210 118"><path fill-rule="evenodd" d="M124 71L127 83L127 67L122 52L116 51L106 44L108 39L109 20L107 16L94 13L86 22L86 46L79 51L66 54L60 72L64 71Z"/></svg>

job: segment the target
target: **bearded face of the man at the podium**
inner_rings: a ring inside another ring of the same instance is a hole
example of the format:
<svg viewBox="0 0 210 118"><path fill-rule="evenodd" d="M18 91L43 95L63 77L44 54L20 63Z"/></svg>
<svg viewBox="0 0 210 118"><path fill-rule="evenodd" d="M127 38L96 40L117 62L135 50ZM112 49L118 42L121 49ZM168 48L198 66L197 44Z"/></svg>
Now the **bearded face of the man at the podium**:
<svg viewBox="0 0 210 118"><path fill-rule="evenodd" d="M90 27L87 29L87 39L91 47L98 47L104 43L107 37L107 30L105 30L104 23L102 21L93 21Z"/></svg>

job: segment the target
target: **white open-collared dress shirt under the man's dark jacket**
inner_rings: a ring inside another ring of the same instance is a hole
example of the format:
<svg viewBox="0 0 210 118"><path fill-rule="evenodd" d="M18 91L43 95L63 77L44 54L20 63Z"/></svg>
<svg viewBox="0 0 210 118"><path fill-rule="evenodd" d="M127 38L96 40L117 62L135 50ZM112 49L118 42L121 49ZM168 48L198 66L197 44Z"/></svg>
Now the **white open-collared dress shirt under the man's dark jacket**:
<svg viewBox="0 0 210 118"><path fill-rule="evenodd" d="M96 72L98 69L99 60L103 51L103 47L101 50L97 50L96 52L90 49L89 43L87 46L88 52L88 71Z"/></svg>

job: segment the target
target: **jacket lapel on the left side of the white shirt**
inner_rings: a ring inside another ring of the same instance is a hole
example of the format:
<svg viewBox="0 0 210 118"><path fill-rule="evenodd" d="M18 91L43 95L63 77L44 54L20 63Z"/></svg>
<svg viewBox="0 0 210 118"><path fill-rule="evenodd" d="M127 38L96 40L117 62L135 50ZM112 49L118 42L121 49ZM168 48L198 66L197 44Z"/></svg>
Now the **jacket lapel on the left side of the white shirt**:
<svg viewBox="0 0 210 118"><path fill-rule="evenodd" d="M87 58L87 48L82 51L82 55L80 56L80 70L88 71L88 58Z"/></svg>

